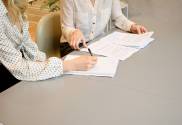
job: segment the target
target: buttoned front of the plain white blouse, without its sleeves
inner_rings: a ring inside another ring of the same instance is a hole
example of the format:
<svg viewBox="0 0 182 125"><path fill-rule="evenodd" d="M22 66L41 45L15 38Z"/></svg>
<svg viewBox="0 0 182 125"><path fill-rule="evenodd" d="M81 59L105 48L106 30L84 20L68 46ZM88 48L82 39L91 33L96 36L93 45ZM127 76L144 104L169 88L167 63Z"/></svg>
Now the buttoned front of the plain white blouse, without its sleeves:
<svg viewBox="0 0 182 125"><path fill-rule="evenodd" d="M74 0L73 22L87 40L92 40L104 32L111 17L112 0L83 1L85 0Z"/></svg>

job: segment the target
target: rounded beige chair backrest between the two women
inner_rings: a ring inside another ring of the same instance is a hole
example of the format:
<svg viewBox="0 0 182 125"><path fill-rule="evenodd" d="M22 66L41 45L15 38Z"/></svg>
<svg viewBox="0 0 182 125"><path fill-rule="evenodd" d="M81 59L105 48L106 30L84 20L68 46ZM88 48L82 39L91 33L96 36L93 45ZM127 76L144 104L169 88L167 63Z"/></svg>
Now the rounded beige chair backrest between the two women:
<svg viewBox="0 0 182 125"><path fill-rule="evenodd" d="M51 13L42 17L37 25L36 42L47 57L61 57L60 37L60 13Z"/></svg>

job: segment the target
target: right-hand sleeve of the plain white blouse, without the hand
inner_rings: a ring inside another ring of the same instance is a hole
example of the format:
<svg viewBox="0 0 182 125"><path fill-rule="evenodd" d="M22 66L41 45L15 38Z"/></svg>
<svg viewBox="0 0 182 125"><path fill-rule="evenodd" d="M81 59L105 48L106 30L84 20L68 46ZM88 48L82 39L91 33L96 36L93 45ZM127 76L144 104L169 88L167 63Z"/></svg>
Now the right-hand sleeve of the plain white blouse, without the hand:
<svg viewBox="0 0 182 125"><path fill-rule="evenodd" d="M122 13L120 0L113 0L112 3L112 20L114 20L114 24L116 27L130 31L131 25L134 22L128 20Z"/></svg>

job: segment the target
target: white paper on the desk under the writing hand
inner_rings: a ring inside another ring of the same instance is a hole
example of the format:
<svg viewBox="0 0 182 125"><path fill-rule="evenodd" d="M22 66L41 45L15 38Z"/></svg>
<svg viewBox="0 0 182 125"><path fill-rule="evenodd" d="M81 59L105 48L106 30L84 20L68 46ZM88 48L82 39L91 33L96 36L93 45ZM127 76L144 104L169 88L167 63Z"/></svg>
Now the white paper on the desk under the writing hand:
<svg viewBox="0 0 182 125"><path fill-rule="evenodd" d="M68 55L65 60L74 59L78 55ZM70 71L65 74L72 75L93 75L93 76L106 76L114 77L118 67L119 60L110 57L97 57L97 64L88 71Z"/></svg>

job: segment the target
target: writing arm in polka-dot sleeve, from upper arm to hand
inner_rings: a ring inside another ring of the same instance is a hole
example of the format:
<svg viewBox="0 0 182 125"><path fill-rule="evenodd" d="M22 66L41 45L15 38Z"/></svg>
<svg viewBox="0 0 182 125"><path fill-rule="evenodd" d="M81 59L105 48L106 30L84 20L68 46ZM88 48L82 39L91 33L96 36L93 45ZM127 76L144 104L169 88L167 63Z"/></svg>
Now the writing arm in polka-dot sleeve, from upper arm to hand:
<svg viewBox="0 0 182 125"><path fill-rule="evenodd" d="M17 79L38 81L60 76L63 74L63 67L64 72L89 70L94 67L97 58L80 56L63 62L56 57L51 57L45 61L26 60L9 40L0 38L0 62Z"/></svg>

